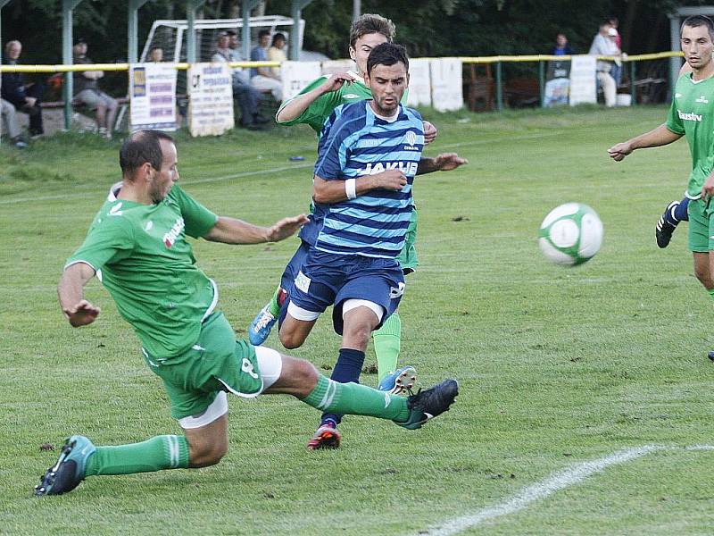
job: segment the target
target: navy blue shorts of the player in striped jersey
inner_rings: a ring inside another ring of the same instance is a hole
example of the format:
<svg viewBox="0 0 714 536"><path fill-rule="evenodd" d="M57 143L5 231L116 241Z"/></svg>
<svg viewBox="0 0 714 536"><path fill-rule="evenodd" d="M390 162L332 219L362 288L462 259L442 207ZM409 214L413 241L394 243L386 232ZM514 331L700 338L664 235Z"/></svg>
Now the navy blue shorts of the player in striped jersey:
<svg viewBox="0 0 714 536"><path fill-rule="evenodd" d="M377 328L396 311L404 293L404 274L396 259L335 255L311 248L290 289L290 301L314 313L334 305L332 323L342 335L342 306L347 299L365 299L382 306Z"/></svg>

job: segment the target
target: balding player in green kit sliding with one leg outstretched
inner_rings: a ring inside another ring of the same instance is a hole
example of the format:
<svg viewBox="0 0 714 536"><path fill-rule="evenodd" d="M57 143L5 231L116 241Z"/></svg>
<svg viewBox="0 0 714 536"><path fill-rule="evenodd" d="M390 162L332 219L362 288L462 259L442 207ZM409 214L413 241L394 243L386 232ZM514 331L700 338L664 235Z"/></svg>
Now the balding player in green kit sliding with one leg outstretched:
<svg viewBox="0 0 714 536"><path fill-rule="evenodd" d="M196 267L187 237L226 244L277 241L307 218L301 214L258 227L213 214L175 184L177 164L168 134L137 130L127 138L120 150L123 180L65 265L57 293L72 326L95 322L100 309L84 298L84 286L101 275L137 333L146 364L162 379L183 435L112 447L73 435L35 487L37 496L71 491L88 476L219 463L228 450L226 393L289 394L322 411L391 419L410 430L449 409L458 394L453 380L405 399L328 380L307 361L236 340L216 310L218 287ZM48 389L53 388L51 382Z"/></svg>

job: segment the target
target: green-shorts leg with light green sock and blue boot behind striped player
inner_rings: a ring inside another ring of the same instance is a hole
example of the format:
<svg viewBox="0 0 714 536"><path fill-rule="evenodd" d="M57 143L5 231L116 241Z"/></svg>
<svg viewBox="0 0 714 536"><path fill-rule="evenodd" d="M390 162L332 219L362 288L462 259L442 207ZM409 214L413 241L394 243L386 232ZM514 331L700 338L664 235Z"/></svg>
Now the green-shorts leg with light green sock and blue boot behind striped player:
<svg viewBox="0 0 714 536"><path fill-rule="evenodd" d="M397 257L404 275L414 272L419 265L415 242L417 239L417 211L411 211L404 247ZM399 394L413 385L416 370L411 365L397 368L402 349L402 319L397 311L387 316L383 325L372 333L377 355L378 389Z"/></svg>

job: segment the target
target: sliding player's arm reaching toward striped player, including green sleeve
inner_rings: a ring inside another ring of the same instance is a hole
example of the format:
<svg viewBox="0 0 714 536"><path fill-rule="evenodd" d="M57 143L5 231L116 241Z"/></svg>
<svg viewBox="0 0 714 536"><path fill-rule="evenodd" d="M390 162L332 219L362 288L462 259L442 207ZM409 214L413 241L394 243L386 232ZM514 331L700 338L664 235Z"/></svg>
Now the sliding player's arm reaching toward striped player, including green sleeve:
<svg viewBox="0 0 714 536"><path fill-rule="evenodd" d="M300 214L283 218L270 227L261 227L237 218L213 214L179 186L171 188L169 195L179 204L186 224L186 234L195 239L203 238L211 242L223 244L278 242L294 235L308 221L307 216Z"/></svg>

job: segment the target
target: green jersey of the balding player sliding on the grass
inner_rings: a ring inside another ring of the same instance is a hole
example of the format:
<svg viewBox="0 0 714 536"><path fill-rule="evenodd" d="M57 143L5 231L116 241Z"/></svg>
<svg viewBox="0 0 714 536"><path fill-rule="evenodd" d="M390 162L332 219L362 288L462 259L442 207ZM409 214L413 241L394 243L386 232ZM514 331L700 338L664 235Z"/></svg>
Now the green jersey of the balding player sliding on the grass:
<svg viewBox="0 0 714 536"><path fill-rule="evenodd" d="M203 237L217 221L176 185L156 205L117 199L112 191L66 266L95 269L148 355L178 356L198 340L218 301L186 236Z"/></svg>

